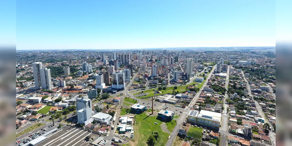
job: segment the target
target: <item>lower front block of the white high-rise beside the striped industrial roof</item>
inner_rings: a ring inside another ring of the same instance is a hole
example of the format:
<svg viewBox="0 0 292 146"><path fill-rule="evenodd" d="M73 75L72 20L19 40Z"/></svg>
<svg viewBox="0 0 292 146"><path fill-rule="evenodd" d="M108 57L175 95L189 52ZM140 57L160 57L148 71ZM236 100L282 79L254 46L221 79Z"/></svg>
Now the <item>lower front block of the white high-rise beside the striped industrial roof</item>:
<svg viewBox="0 0 292 146"><path fill-rule="evenodd" d="M93 121L91 118L91 107L86 106L83 109L77 110L78 123L87 125Z"/></svg>

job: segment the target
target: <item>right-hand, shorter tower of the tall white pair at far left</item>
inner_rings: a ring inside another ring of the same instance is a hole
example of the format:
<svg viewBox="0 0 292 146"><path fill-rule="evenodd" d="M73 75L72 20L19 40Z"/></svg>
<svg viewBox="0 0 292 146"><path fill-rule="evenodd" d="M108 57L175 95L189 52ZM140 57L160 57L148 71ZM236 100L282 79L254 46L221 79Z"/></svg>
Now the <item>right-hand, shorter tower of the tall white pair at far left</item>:
<svg viewBox="0 0 292 146"><path fill-rule="evenodd" d="M46 67L39 69L39 74L41 77L41 85L43 89L52 89L52 79L51 79L51 71Z"/></svg>

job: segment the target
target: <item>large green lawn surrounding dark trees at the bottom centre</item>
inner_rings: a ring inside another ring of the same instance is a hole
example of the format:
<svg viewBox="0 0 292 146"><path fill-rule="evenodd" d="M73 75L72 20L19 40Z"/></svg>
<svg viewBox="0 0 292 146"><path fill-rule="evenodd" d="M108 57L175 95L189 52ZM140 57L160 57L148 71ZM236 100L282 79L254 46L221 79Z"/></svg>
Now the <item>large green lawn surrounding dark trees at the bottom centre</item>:
<svg viewBox="0 0 292 146"><path fill-rule="evenodd" d="M161 130L160 125L162 121L159 121L155 117L148 117L145 113L136 115L136 124L134 125L134 143L133 145L137 146L146 146L147 139L149 135L152 135L152 132L158 132L159 138L155 142L156 145L165 145L168 138L168 133L165 133ZM154 123L157 124L154 124Z"/></svg>

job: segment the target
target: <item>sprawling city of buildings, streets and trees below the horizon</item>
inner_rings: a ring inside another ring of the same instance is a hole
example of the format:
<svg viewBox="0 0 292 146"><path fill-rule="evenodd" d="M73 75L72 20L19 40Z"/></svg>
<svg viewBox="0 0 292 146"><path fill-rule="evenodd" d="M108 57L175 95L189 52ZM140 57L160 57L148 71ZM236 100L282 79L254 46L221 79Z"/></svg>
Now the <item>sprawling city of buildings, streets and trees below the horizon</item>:
<svg viewBox="0 0 292 146"><path fill-rule="evenodd" d="M275 145L275 47L175 49L17 51L16 145Z"/></svg>

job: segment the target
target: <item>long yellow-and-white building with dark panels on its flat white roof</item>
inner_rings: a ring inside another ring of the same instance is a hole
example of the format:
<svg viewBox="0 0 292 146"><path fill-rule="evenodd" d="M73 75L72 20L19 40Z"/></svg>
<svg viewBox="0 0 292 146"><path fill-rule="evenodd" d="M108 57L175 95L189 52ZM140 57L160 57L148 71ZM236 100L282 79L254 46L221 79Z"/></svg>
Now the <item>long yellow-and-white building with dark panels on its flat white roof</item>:
<svg viewBox="0 0 292 146"><path fill-rule="evenodd" d="M221 113L201 110L191 110L188 114L187 121L194 124L200 124L211 128L220 127Z"/></svg>

